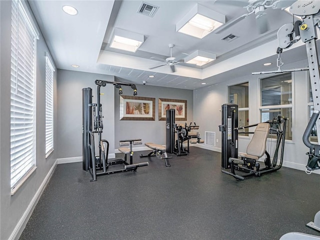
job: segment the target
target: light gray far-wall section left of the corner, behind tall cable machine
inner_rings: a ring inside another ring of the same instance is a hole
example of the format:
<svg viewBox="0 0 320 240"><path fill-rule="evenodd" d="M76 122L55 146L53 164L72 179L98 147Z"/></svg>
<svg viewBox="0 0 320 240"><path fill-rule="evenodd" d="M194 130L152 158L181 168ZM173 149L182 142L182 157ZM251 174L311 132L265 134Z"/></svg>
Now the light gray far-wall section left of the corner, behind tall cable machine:
<svg viewBox="0 0 320 240"><path fill-rule="evenodd" d="M92 103L95 103L94 81L114 81L114 76L80 71L58 70L57 92L57 158L82 156L82 88L92 88ZM114 90L112 84L100 88L102 104L102 139L109 141L109 153L114 153ZM111 127L109 127L111 126Z"/></svg>

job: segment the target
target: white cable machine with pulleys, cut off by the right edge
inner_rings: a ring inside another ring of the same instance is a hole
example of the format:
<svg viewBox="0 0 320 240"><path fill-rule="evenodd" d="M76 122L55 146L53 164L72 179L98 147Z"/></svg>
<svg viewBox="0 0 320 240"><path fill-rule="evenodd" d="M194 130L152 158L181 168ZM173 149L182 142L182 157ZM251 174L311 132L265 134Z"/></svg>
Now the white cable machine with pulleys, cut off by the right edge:
<svg viewBox="0 0 320 240"><path fill-rule="evenodd" d="M320 159L320 145L312 144L309 141L309 136L314 127L316 126L316 133L318 143L320 143L320 121L318 120L320 112L320 71L319 71L319 60L318 53L316 49L316 39L317 39L317 27L320 27L320 1L305 1L297 0L289 8L289 11L293 15L300 16L302 21L297 20L292 23L284 24L277 31L277 38L279 47L277 49L278 58L276 71L261 71L252 72L252 74L264 74L264 73L278 73L278 72L290 72L290 71L301 71L308 70L311 82L311 90L313 96L313 113L306 126L302 140L303 143L309 148L306 153L308 155L308 161L306 165L305 172L310 174L313 170L317 170L320 167L318 162ZM305 43L308 67L304 68L294 68L294 69L280 69L283 65L280 53L283 48L290 47L293 43L302 40ZM318 211L314 216L314 222L309 222L306 226L311 227L317 231L320 231L320 211ZM320 239L319 236L304 234L300 232L289 232L281 236L280 240L307 240L307 239Z"/></svg>

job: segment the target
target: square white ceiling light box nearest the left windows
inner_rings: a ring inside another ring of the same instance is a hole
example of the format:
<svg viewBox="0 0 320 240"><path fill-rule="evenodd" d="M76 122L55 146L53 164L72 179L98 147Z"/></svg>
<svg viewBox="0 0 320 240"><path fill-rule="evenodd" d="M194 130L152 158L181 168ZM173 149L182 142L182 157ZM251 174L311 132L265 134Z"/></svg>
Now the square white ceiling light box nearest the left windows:
<svg viewBox="0 0 320 240"><path fill-rule="evenodd" d="M109 47L135 52L144 41L144 35L115 28Z"/></svg>

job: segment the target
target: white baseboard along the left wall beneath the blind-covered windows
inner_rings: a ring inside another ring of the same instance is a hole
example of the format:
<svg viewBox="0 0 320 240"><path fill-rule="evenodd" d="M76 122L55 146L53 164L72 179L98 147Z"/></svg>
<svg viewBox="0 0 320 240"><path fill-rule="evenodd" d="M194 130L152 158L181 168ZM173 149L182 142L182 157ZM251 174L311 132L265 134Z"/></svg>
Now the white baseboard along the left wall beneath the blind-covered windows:
<svg viewBox="0 0 320 240"><path fill-rule="evenodd" d="M24 211L22 217L20 218L20 220L18 221L18 223L16 224L16 226L14 227L12 233L9 236L9 240L18 240L27 221L29 220L34 207L36 205L36 203L38 202L38 200L40 199L40 196L46 186L46 184L49 182L52 173L56 167L57 164L57 160L55 160L55 162L53 163L53 165L51 166L49 172L46 174L46 176L44 177L41 185L39 186L39 188L37 189L37 191L35 192L34 196L32 197L32 200L30 201L28 207L26 208L26 210Z"/></svg>

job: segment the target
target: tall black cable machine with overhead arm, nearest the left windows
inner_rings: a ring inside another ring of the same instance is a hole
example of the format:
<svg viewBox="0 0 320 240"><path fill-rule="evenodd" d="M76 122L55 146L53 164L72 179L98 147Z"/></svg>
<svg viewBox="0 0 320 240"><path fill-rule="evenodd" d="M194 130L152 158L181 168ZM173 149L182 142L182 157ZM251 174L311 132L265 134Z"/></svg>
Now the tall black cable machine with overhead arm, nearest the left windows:
<svg viewBox="0 0 320 240"><path fill-rule="evenodd" d="M148 165L148 162L132 162L132 142L134 144L134 142L139 142L141 141L141 139L120 140L120 144L121 142L126 142L130 145L130 148L119 148L119 151L124 153L124 159L115 159L108 161L109 143L107 140L101 139L101 133L103 129L103 116L102 106L100 104L100 87L105 86L107 83L113 84L116 88L118 88L119 94L122 93L122 85L131 86L131 88L133 89L133 95L137 94L134 84L95 80L95 84L97 85L96 103L92 103L92 89L90 87L82 88L82 168L85 171L90 171L92 175L91 181L96 181L96 177L99 175L107 175L125 171L135 171L137 167ZM95 135L98 136L98 155L95 155ZM127 162L127 154L130 154L129 163ZM109 171L107 170L110 165L115 164L123 164L123 168L112 169Z"/></svg>

